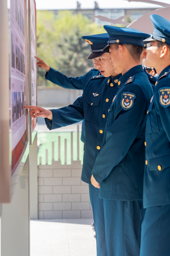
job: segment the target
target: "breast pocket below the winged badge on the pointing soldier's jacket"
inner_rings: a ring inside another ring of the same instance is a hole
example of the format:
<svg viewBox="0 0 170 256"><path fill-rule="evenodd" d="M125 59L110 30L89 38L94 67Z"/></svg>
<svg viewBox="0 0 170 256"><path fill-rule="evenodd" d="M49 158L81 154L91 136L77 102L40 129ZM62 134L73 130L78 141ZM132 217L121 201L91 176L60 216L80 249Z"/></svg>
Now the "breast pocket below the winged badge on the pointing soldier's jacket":
<svg viewBox="0 0 170 256"><path fill-rule="evenodd" d="M87 95L84 102L84 120L93 123L97 122L100 99L91 95Z"/></svg>

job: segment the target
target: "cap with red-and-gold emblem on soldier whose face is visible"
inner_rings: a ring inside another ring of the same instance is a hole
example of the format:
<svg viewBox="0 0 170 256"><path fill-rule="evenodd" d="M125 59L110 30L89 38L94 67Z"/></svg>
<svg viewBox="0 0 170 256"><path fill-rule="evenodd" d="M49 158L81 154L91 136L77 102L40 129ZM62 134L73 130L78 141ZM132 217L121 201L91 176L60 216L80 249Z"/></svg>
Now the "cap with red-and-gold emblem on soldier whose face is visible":
<svg viewBox="0 0 170 256"><path fill-rule="evenodd" d="M91 53L87 59L94 59L105 53L103 48L107 45L109 35L107 33L82 37L91 46Z"/></svg>

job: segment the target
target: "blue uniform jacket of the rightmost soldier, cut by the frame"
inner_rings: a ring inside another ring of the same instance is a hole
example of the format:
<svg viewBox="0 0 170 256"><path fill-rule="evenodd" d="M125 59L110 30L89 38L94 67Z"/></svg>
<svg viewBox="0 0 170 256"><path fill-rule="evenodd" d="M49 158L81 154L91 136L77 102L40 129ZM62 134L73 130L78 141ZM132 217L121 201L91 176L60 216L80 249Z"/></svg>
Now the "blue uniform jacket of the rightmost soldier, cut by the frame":
<svg viewBox="0 0 170 256"><path fill-rule="evenodd" d="M144 208L170 204L170 65L157 81L146 124Z"/></svg>

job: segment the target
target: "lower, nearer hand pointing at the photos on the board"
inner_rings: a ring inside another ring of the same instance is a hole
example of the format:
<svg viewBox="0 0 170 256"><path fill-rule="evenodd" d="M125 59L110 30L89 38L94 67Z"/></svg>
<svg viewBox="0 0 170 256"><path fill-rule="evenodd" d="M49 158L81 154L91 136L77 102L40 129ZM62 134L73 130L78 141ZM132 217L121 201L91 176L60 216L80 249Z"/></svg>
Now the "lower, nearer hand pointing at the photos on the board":
<svg viewBox="0 0 170 256"><path fill-rule="evenodd" d="M51 110L47 110L47 109L41 108L39 106L25 106L24 108L31 109L29 111L29 113L32 118L37 118L38 116L40 116L40 117L44 117L44 118L47 117L50 120L53 119L53 114L52 114Z"/></svg>

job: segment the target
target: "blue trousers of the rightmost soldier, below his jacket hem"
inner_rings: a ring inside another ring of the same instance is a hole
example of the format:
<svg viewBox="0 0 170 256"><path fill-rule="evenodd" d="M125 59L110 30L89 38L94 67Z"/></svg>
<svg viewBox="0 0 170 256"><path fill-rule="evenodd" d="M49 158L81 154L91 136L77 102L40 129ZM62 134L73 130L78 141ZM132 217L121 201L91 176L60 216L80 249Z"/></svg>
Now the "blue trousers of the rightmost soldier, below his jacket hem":
<svg viewBox="0 0 170 256"><path fill-rule="evenodd" d="M170 255L170 205L146 208L140 256Z"/></svg>

